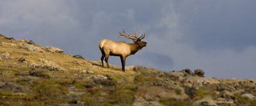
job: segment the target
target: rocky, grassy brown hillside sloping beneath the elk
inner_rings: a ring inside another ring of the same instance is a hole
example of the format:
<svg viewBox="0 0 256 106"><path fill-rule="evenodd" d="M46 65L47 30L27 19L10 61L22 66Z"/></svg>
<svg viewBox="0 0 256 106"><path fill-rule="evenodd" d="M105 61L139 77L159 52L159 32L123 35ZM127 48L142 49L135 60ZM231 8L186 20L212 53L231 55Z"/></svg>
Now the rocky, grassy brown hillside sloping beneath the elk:
<svg viewBox="0 0 256 106"><path fill-rule="evenodd" d="M252 79L110 67L1 34L0 105L256 105Z"/></svg>

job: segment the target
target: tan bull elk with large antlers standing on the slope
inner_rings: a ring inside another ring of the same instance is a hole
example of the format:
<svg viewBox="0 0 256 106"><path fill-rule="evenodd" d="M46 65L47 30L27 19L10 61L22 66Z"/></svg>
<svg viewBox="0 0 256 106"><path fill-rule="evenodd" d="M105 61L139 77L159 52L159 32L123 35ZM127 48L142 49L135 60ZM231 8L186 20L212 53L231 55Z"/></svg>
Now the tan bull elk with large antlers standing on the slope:
<svg viewBox="0 0 256 106"><path fill-rule="evenodd" d="M142 42L141 40L145 38L145 33L141 34L139 38L136 36L136 31L134 29L134 34L128 33L125 34L123 29L123 33L119 32L119 36L125 36L126 38L131 39L134 43L126 43L126 42L114 42L112 40L101 40L99 42L99 49L102 53L100 58L101 64L104 67L103 59L108 65L108 58L109 56L120 56L122 62L122 71L125 71L125 59L126 57L130 56L131 54L135 54L138 50L146 47L147 42Z"/></svg>

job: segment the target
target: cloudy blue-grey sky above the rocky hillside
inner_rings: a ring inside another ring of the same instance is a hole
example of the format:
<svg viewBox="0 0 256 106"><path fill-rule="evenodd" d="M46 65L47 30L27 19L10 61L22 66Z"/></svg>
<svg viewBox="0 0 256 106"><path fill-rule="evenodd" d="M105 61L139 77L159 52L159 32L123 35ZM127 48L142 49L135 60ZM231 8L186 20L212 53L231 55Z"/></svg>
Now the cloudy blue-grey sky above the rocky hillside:
<svg viewBox="0 0 256 106"><path fill-rule="evenodd" d="M102 39L147 42L126 66L202 69L207 77L256 79L256 1L253 0L0 0L0 33L100 61ZM120 57L109 63L121 66Z"/></svg>

